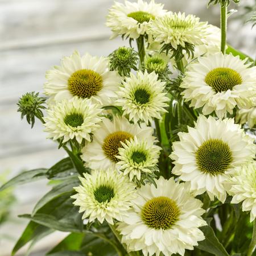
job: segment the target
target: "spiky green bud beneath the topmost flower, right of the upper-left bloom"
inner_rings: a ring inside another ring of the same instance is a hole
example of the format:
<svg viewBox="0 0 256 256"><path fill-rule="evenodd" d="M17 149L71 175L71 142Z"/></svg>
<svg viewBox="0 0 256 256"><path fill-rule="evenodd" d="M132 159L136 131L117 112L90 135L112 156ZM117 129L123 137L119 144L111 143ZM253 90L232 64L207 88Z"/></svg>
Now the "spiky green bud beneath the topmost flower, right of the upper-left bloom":
<svg viewBox="0 0 256 256"><path fill-rule="evenodd" d="M118 71L120 76L128 76L131 69L137 70L138 55L133 48L119 47L109 55L110 70Z"/></svg>

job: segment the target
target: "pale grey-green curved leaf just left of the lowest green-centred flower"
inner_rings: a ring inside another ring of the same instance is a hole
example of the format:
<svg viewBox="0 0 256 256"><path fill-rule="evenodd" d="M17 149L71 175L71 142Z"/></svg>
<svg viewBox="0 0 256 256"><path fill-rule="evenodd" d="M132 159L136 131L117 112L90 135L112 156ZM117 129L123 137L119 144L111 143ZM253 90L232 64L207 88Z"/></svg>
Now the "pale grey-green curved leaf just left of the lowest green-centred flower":
<svg viewBox="0 0 256 256"><path fill-rule="evenodd" d="M38 203L36 203L31 215L34 216L34 214L49 201L72 193L74 191L73 187L77 187L77 185L79 185L79 179L77 177L72 177L63 183L56 185L51 191L46 193L46 195L44 195L42 199L38 201Z"/></svg>

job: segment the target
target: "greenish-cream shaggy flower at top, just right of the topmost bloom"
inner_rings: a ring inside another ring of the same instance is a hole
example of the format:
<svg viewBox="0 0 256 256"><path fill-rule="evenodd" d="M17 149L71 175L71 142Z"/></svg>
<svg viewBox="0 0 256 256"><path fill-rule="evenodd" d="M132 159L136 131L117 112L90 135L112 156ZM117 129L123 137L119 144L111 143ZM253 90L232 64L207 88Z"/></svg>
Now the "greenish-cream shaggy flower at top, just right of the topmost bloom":
<svg viewBox="0 0 256 256"><path fill-rule="evenodd" d="M162 18L156 18L150 23L149 31L156 42L171 44L174 49L178 46L186 48L186 44L204 44L207 22L200 22L195 15L168 13Z"/></svg>

